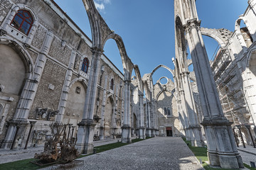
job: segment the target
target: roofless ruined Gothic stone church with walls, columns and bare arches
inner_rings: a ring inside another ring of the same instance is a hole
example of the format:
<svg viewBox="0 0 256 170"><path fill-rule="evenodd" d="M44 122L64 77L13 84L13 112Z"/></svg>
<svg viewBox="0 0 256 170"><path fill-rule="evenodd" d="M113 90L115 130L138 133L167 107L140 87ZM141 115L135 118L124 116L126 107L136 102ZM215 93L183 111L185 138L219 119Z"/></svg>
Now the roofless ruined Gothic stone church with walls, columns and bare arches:
<svg viewBox="0 0 256 170"><path fill-rule="evenodd" d="M163 63L143 76L94 2L82 1L92 40L53 0L1 0L1 148L43 146L52 125L60 125L78 138L80 153L111 137L176 136L207 146L213 166L243 167L236 145L256 142L256 1L248 1L231 32L202 28L196 0L174 0L175 69ZM202 35L220 46L212 61ZM104 54L110 39L122 71ZM154 84L159 68L174 81Z"/></svg>

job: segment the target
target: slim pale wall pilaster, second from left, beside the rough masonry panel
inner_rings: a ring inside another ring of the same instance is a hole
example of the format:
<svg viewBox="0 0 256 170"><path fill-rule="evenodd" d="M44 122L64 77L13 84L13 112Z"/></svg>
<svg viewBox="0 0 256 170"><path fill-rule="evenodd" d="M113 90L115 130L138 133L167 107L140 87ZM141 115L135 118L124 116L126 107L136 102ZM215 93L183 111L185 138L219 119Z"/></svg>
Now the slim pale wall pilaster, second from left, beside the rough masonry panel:
<svg viewBox="0 0 256 170"><path fill-rule="evenodd" d="M70 57L70 63L68 65L68 70L66 72L65 75L65 81L64 81L64 85L63 85L63 91L61 93L61 97L60 97L60 103L58 106L58 115L55 118L55 123L57 124L62 124L63 123L63 115L65 113L65 107L67 105L67 101L68 101L68 91L69 91L69 85L70 85L70 81L72 78L72 74L73 74L73 67L74 67L74 63L75 63L75 55L76 52L75 50L73 50L71 52L71 57Z"/></svg>

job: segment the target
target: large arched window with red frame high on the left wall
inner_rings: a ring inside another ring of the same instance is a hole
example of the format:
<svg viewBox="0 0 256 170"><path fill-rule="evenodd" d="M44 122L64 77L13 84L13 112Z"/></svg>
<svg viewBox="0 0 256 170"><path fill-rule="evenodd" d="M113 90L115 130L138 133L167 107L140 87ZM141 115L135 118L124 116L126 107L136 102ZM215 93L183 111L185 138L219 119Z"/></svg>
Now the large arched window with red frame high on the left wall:
<svg viewBox="0 0 256 170"><path fill-rule="evenodd" d="M28 35L32 25L33 17L31 16L31 13L25 10L18 10L18 13L16 13L16 15L14 16L13 21L11 21L11 26L26 35Z"/></svg>

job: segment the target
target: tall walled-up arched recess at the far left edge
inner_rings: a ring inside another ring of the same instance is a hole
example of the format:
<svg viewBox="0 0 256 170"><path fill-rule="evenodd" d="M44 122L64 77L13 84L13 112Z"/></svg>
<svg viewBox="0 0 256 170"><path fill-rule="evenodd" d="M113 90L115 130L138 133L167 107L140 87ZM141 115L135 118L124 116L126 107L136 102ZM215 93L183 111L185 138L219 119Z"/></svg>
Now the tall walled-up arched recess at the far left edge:
<svg viewBox="0 0 256 170"><path fill-rule="evenodd" d="M0 105L1 105L1 121L0 121L0 143L4 140L7 132L6 120L12 120L18 101L20 100L23 86L26 78L29 76L28 61L16 52L13 45L0 44ZM12 98L11 101L6 98ZM18 136L24 131L24 127L19 130ZM10 131L11 132L11 131ZM7 140L5 140L7 141ZM12 140L4 142L1 147L11 147Z"/></svg>

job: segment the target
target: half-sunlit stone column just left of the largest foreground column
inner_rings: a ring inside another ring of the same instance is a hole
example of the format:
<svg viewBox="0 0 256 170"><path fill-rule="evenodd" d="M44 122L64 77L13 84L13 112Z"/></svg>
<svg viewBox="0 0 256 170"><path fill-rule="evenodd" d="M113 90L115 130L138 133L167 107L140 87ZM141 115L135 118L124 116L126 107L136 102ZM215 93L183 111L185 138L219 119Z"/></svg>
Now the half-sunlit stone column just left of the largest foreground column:
<svg viewBox="0 0 256 170"><path fill-rule="evenodd" d="M188 112L189 130L191 132L191 145L196 147L203 147L203 135L201 132L201 126L198 122L196 114L196 105L193 98L193 91L191 89L191 83L189 79L189 72L183 72L181 74L182 86L184 89L184 97L186 103L186 111Z"/></svg>

